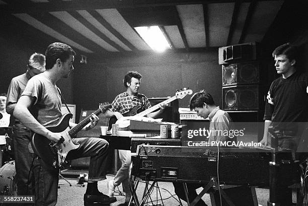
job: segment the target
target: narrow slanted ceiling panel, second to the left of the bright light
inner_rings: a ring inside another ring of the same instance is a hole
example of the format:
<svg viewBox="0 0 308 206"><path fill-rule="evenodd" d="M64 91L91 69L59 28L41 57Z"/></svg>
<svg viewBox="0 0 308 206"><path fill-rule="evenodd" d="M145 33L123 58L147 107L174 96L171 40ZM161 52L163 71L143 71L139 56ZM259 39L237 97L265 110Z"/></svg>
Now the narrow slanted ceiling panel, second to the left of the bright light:
<svg viewBox="0 0 308 206"><path fill-rule="evenodd" d="M117 37L115 37L109 30L107 30L99 21L97 21L89 12L86 10L77 11L83 18L90 22L94 27L96 27L100 32L105 34L110 40L114 41L116 44L120 45L124 50L131 51L129 47L123 44Z"/></svg>

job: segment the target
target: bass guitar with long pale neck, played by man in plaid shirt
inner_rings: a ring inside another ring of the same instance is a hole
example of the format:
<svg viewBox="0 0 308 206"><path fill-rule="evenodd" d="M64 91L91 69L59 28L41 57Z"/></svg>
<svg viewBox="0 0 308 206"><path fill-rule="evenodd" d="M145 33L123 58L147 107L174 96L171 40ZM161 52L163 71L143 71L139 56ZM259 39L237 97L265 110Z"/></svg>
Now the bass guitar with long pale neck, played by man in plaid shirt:
<svg viewBox="0 0 308 206"><path fill-rule="evenodd" d="M144 110L143 107L141 105L138 106L134 106L130 109L129 112L123 114L124 117L129 117L129 116L133 116L135 117L144 117L147 114L159 109L162 105L167 105L169 104L171 101L174 101L175 99L182 99L184 98L187 94L192 94L192 90L191 89L185 89L183 91L178 91L175 93L175 95L169 99L166 99L165 101L160 102L160 104L157 104L153 107L148 108L147 110ZM121 118L122 119L122 118ZM127 120L127 118L123 118L123 121ZM112 124L115 124L117 122L117 118L116 117L112 117L109 119L109 127L111 127ZM123 127L127 127L127 124L123 124ZM119 125L120 126L120 125Z"/></svg>

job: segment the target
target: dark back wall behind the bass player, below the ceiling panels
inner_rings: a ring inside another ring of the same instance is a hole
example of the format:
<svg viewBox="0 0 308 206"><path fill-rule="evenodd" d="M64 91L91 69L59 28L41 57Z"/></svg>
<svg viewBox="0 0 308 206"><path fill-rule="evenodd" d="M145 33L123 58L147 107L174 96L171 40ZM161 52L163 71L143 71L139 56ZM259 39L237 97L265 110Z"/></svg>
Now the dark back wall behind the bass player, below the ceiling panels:
<svg viewBox="0 0 308 206"><path fill-rule="evenodd" d="M77 112L93 110L99 102L112 102L117 94L126 90L123 78L129 70L142 74L139 92L147 97L174 96L176 89L189 87L193 92L206 89L220 105L221 66L218 64L217 48L204 53L110 58L108 62L88 60L88 64L74 72L73 95ZM180 107L188 107L190 96L179 101Z"/></svg>

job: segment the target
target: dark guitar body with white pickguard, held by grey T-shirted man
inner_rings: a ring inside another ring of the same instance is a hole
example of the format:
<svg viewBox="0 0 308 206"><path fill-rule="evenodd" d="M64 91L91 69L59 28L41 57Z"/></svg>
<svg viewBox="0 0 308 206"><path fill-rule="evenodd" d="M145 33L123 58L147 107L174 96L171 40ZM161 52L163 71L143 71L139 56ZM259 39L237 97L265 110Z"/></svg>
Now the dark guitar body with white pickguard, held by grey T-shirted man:
<svg viewBox="0 0 308 206"><path fill-rule="evenodd" d="M53 169L59 169L59 166L65 160L67 153L70 150L77 149L80 145L75 145L71 141L71 137L68 134L69 130L69 119L72 117L72 114L67 113L62 116L59 123L54 127L47 127L51 132L61 133L61 136L64 138L64 144L61 143L52 147L53 144L46 137L34 133L32 136L31 145L32 148L43 161L48 166L51 166ZM59 165L60 163L60 165Z"/></svg>

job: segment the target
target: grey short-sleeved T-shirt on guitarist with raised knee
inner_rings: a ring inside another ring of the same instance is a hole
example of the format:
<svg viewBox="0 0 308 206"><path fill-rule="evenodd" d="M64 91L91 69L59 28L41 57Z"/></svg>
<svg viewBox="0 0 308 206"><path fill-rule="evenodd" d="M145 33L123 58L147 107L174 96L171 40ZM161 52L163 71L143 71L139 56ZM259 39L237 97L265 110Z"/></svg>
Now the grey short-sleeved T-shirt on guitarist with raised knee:
<svg viewBox="0 0 308 206"><path fill-rule="evenodd" d="M58 87L53 84L44 73L32 77L22 93L22 96L35 98L30 112L33 117L43 126L55 126L61 116L61 97Z"/></svg>

